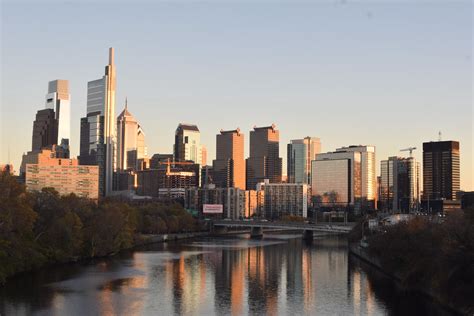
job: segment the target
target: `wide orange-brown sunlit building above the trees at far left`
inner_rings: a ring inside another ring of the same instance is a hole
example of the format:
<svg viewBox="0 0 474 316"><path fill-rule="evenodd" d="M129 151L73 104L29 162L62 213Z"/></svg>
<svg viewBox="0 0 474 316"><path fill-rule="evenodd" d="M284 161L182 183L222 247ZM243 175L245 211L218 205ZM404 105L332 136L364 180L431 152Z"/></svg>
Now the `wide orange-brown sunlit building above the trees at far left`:
<svg viewBox="0 0 474 316"><path fill-rule="evenodd" d="M77 159L55 158L56 153L43 149L31 153L25 167L25 184L30 191L54 188L61 195L74 193L97 200L99 197L99 167L79 166ZM35 161L34 163L30 163Z"/></svg>

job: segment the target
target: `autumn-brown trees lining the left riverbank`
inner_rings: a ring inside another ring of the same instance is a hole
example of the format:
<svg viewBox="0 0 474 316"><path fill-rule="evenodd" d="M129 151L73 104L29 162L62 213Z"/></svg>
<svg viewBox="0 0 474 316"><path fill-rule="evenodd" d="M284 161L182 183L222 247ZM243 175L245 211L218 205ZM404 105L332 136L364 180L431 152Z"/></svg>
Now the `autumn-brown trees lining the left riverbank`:
<svg viewBox="0 0 474 316"><path fill-rule="evenodd" d="M198 221L178 203L135 206L104 199L97 204L52 188L27 192L0 173L0 285L46 265L130 249L146 243L144 235L199 231Z"/></svg>

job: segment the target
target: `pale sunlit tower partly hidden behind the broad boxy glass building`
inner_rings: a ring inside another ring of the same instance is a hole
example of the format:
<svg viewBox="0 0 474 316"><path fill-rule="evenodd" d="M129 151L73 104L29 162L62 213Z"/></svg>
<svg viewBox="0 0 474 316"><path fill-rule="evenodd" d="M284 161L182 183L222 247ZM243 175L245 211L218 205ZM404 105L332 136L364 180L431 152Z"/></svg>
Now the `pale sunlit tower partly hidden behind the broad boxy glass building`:
<svg viewBox="0 0 474 316"><path fill-rule="evenodd" d="M377 205L377 175L375 146L352 145L337 148L336 152L359 152L361 154L361 202L363 206L375 209Z"/></svg>

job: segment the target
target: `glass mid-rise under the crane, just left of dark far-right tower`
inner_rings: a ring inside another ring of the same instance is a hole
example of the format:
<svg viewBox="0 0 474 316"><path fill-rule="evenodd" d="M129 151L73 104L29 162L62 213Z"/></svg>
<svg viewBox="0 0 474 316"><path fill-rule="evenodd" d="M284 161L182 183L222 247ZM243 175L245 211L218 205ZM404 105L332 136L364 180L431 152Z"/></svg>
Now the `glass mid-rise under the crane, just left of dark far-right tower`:
<svg viewBox="0 0 474 316"><path fill-rule="evenodd" d="M389 157L380 162L379 210L415 211L420 203L420 163L415 158Z"/></svg>

